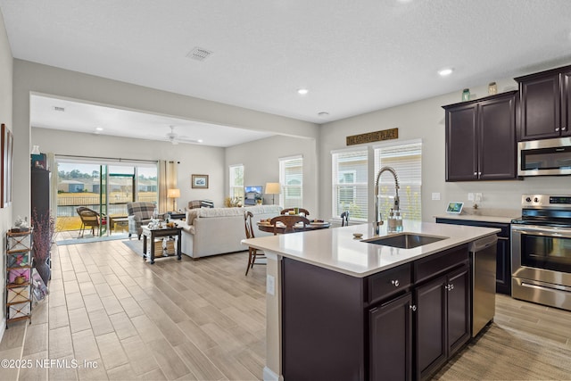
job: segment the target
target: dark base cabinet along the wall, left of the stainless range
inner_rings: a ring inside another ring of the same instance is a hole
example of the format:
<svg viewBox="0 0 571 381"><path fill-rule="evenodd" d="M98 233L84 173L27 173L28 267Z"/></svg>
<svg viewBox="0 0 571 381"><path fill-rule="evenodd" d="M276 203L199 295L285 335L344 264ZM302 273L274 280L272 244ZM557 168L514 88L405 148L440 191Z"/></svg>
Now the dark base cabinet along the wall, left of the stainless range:
<svg viewBox="0 0 571 381"><path fill-rule="evenodd" d="M511 295L511 245L509 233L510 224L475 221L468 219L436 218L436 223L451 225L467 225L471 227L499 228L498 244L496 247L496 293Z"/></svg>

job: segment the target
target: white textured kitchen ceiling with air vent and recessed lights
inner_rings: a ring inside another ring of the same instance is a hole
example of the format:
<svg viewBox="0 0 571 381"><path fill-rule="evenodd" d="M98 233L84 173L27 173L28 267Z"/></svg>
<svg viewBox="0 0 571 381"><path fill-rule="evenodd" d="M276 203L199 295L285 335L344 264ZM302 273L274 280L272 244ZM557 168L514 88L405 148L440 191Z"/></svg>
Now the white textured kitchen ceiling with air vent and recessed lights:
<svg viewBox="0 0 571 381"><path fill-rule="evenodd" d="M568 0L0 0L0 8L16 58L316 123L571 61ZM211 56L186 57L194 46ZM454 73L440 78L443 67ZM298 95L301 87L309 94Z"/></svg>

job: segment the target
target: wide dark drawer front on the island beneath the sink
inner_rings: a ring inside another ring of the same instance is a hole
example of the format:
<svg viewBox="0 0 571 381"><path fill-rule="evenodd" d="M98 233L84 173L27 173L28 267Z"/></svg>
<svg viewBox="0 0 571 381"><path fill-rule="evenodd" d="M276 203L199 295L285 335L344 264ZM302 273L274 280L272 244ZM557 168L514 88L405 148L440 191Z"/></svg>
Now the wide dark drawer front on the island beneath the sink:
<svg viewBox="0 0 571 381"><path fill-rule="evenodd" d="M414 261L414 282L423 282L468 261L468 244Z"/></svg>

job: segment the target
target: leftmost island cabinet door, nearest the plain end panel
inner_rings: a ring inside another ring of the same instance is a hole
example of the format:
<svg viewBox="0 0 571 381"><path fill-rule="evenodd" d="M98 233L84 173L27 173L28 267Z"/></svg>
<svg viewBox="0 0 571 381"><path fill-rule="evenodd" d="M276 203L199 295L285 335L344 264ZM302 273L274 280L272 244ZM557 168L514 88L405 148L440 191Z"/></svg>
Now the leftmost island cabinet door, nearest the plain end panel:
<svg viewBox="0 0 571 381"><path fill-rule="evenodd" d="M412 377L412 294L368 312L370 380Z"/></svg>

